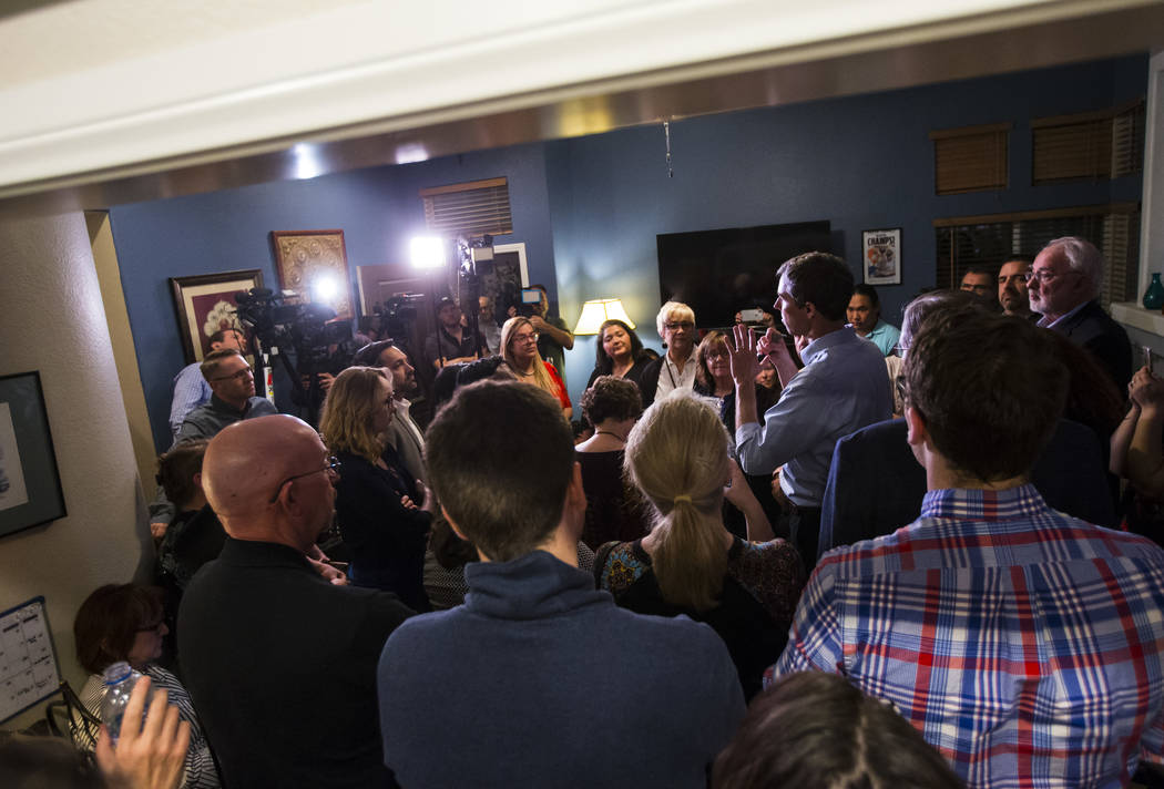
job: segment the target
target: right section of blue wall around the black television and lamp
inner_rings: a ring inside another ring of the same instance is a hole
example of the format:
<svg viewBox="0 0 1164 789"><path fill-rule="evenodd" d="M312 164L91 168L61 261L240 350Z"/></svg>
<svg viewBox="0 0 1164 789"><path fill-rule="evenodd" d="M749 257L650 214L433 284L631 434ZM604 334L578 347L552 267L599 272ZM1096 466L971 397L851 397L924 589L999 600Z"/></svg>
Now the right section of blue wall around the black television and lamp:
<svg viewBox="0 0 1164 789"><path fill-rule="evenodd" d="M935 283L932 221L944 216L1140 200L1141 178L1032 186L1030 119L1142 97L1147 56L988 79L681 120L546 145L554 261L567 321L582 301L624 299L644 343L660 347L655 235L830 220L833 251L856 262L861 230L902 228L902 284L881 287L890 322ZM937 197L935 129L1014 125L1010 186ZM859 268L853 265L860 280ZM771 294L774 296L774 294ZM594 339L567 355L570 397L594 365Z"/></svg>

